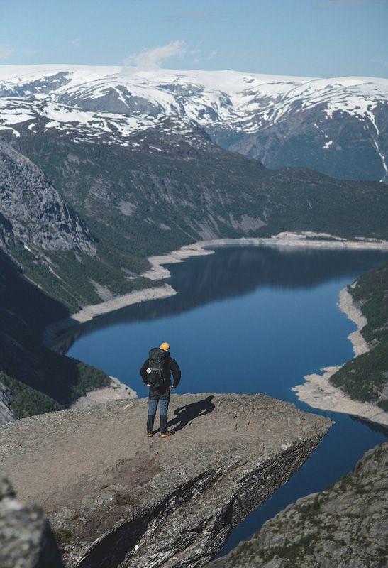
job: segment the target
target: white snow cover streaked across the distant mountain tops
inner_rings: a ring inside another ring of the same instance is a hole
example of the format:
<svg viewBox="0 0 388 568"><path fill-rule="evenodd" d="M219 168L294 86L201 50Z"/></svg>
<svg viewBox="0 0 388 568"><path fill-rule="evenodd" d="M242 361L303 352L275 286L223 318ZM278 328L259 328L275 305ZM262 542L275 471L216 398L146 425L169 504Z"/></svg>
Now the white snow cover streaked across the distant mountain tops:
<svg viewBox="0 0 388 568"><path fill-rule="evenodd" d="M60 74L61 80L56 76ZM34 87L34 82L36 83ZM387 104L388 80L376 77L289 77L220 71L139 70L135 67L87 65L1 65L4 92L28 97L0 99L0 129L13 129L43 116L46 129L70 133L76 142L98 141L128 146L128 139L151 128L194 141L197 124L235 132L256 133L289 115L318 108L324 121L346 113L375 130L375 148L388 173L376 110ZM44 87L45 92L42 93ZM110 102L106 102L109 99ZM122 110L88 111L104 105ZM66 104L65 104L66 102ZM90 103L93 103L91 106ZM72 106L70 106L70 104ZM77 105L77 106L76 106ZM84 108L82 108L84 105ZM163 121L172 121L164 124ZM32 124L32 123L31 123ZM319 129L319 128L318 128ZM328 150L333 141L323 132ZM139 140L132 143L138 147ZM161 151L157 146L156 151Z"/></svg>

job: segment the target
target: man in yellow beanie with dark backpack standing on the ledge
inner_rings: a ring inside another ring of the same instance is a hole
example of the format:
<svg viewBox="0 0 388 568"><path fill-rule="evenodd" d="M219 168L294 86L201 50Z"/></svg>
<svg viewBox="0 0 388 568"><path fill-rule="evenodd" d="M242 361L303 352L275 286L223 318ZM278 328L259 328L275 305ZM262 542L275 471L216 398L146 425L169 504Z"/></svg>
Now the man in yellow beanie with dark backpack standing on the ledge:
<svg viewBox="0 0 388 568"><path fill-rule="evenodd" d="M171 383L171 373L174 382ZM170 403L170 391L179 385L181 371L177 361L170 357L170 344L164 342L160 347L153 347L140 369L141 378L150 387L148 395L147 435L153 437L153 426L157 405L160 411L160 432L162 438L175 434L167 430L167 410Z"/></svg>

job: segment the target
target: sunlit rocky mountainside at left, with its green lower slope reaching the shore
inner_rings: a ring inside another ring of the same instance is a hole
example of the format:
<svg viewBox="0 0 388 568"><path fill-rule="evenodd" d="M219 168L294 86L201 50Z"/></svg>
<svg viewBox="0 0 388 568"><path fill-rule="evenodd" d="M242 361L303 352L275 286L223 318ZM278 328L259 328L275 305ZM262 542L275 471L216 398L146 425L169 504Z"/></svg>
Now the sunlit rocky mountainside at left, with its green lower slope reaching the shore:
<svg viewBox="0 0 388 568"><path fill-rule="evenodd" d="M76 312L141 285L128 280L119 261L101 258L97 245L98 236L48 175L16 149L14 140L0 138L0 253Z"/></svg>

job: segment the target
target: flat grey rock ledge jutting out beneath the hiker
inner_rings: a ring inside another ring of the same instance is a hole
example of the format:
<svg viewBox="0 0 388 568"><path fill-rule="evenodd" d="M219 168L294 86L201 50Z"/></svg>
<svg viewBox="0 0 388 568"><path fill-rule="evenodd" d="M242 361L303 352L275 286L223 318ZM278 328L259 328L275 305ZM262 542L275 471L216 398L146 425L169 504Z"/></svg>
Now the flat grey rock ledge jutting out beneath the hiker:
<svg viewBox="0 0 388 568"><path fill-rule="evenodd" d="M0 461L38 503L67 566L202 567L282 486L331 425L262 395L173 395L170 439L148 401L121 400L0 428Z"/></svg>

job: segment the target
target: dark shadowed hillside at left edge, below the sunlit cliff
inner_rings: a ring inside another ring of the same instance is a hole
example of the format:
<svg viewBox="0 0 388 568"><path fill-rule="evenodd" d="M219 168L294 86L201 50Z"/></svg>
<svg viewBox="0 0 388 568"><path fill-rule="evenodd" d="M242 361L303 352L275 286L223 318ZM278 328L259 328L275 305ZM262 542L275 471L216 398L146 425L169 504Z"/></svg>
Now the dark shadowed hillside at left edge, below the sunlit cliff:
<svg viewBox="0 0 388 568"><path fill-rule="evenodd" d="M99 369L43 346L45 326L68 314L0 251L0 382L11 389L18 418L68 407L109 383Z"/></svg>

